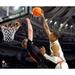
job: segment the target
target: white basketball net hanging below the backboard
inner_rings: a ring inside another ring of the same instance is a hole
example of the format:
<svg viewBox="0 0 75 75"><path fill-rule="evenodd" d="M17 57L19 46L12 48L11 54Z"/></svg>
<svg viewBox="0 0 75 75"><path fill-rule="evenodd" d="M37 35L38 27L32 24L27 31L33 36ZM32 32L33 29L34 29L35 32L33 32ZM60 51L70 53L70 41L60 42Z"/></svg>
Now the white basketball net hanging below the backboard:
<svg viewBox="0 0 75 75"><path fill-rule="evenodd" d="M14 40L14 35L15 35L16 31L18 30L18 28L1 26L1 30L3 33L3 40L10 42L10 41Z"/></svg>

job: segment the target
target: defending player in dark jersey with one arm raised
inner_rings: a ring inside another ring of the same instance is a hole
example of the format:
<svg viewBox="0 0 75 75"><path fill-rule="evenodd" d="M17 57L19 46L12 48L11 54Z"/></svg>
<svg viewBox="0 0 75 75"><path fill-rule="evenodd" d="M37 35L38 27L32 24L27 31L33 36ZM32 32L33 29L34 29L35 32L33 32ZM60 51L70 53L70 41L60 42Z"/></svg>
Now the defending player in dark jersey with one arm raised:
<svg viewBox="0 0 75 75"><path fill-rule="evenodd" d="M43 57L40 55L40 49L33 44L33 28L29 18L26 18L28 24L28 39L24 39L22 46L27 48L31 56L36 60L38 68L47 68L44 63Z"/></svg>

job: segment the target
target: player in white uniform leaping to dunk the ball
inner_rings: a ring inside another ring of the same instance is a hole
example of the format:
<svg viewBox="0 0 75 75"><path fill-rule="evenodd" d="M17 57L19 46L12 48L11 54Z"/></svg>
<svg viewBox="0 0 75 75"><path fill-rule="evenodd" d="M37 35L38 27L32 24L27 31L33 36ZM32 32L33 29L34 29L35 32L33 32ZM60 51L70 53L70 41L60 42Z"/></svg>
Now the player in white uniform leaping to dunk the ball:
<svg viewBox="0 0 75 75"><path fill-rule="evenodd" d="M60 43L58 41L57 34L48 27L48 24L45 20L44 14L42 14L42 20L43 20L43 28L46 32L48 39L50 41L50 51L51 55L46 54L46 49L42 47L40 49L41 54L47 59L52 61L56 64L56 69L68 69L68 65L66 63L66 60L64 58L62 48L60 46Z"/></svg>

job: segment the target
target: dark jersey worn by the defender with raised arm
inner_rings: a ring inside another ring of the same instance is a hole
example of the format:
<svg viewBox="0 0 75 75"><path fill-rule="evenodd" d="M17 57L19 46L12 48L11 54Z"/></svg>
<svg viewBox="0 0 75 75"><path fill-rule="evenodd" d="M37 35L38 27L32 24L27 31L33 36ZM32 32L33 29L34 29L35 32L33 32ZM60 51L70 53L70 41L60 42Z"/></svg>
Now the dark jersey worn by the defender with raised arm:
<svg viewBox="0 0 75 75"><path fill-rule="evenodd" d="M37 46L35 46L32 41L28 40L28 51L32 54L32 56L38 61L38 68L48 68L45 64L44 57L40 54L40 50Z"/></svg>

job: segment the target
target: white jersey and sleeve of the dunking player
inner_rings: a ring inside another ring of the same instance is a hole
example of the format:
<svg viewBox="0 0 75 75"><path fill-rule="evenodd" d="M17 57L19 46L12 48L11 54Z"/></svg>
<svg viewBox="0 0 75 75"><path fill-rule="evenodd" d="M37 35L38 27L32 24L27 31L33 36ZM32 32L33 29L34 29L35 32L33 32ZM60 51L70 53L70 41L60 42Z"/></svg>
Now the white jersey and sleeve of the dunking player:
<svg viewBox="0 0 75 75"><path fill-rule="evenodd" d="M53 51L51 49L53 44L58 44L58 46L59 46L59 57L53 56ZM58 40L56 40L53 43L50 42L50 51L51 51L51 55L49 56L47 54L44 54L44 57L47 60L50 60L50 61L56 63L57 64L56 67L55 67L56 69L68 69L68 65L66 63L66 60L65 60L63 52L62 52L62 48L61 48Z"/></svg>

